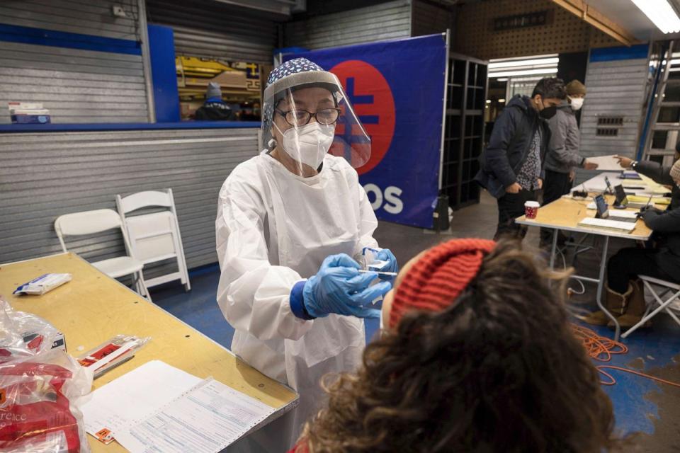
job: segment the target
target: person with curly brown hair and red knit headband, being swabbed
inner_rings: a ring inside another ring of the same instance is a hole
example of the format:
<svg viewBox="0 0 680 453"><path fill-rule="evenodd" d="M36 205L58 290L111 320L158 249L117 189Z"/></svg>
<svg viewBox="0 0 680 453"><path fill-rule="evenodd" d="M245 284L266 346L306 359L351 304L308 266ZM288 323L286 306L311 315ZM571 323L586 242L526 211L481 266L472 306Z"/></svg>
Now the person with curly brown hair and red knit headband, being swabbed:
<svg viewBox="0 0 680 453"><path fill-rule="evenodd" d="M608 451L611 401L544 268L516 241L416 256L385 296L387 330L356 374L324 379L327 407L292 451Z"/></svg>

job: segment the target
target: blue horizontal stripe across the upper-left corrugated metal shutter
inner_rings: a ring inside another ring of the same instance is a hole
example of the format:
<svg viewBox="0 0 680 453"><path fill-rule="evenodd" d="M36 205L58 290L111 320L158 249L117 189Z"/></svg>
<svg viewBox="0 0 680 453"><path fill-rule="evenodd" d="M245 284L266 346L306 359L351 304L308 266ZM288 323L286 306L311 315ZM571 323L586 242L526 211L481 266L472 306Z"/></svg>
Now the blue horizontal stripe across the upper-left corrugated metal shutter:
<svg viewBox="0 0 680 453"><path fill-rule="evenodd" d="M96 50L117 54L142 55L140 43L135 40L121 40L81 33L45 30L0 23L0 41L23 42L24 44L68 47L70 49Z"/></svg>

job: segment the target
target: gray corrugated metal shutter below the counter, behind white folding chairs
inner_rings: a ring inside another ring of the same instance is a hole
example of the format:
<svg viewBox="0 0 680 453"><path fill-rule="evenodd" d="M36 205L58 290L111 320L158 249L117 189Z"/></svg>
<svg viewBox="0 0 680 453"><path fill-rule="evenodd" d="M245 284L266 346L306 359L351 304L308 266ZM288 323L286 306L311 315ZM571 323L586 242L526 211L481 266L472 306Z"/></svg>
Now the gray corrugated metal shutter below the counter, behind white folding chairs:
<svg viewBox="0 0 680 453"><path fill-rule="evenodd" d="M60 252L54 222L61 214L115 210L116 194L162 188L174 192L188 267L215 263L217 195L234 167L257 154L258 132L0 135L0 263ZM119 233L72 239L69 250L87 260L125 253Z"/></svg>

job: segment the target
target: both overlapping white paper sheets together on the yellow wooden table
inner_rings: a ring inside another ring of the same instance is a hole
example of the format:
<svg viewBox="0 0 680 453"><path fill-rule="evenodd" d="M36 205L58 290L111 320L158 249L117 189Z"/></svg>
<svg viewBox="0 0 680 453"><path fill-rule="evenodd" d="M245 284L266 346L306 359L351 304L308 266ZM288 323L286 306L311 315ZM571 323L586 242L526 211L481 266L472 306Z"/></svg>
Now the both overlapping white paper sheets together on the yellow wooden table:
<svg viewBox="0 0 680 453"><path fill-rule="evenodd" d="M87 432L131 453L218 453L276 412L159 360L97 389L81 410Z"/></svg>

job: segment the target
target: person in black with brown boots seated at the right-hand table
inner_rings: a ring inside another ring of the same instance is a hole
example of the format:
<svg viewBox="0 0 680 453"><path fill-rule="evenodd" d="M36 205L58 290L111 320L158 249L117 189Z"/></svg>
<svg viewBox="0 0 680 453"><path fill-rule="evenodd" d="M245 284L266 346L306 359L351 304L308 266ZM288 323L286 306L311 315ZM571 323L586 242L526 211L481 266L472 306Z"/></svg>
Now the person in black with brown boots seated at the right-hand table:
<svg viewBox="0 0 680 453"><path fill-rule="evenodd" d="M669 170L674 190L680 185L680 161ZM645 314L647 305L638 275L680 282L680 207L658 210L642 208L642 219L652 231L651 248L622 248L607 263L605 306L616 316L622 328L635 326ZM595 311L584 321L613 327L603 311ZM650 326L651 323L645 323Z"/></svg>

